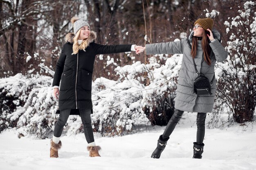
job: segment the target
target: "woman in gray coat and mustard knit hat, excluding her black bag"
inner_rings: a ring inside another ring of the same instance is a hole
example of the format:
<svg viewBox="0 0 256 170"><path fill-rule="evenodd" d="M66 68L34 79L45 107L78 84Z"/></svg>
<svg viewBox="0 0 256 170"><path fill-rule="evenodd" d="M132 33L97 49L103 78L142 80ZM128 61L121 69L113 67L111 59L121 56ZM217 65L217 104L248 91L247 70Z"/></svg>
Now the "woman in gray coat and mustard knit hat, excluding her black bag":
<svg viewBox="0 0 256 170"><path fill-rule="evenodd" d="M214 96L216 93L216 79L214 76L214 65L223 62L227 58L227 51L220 43L220 33L212 30L213 20L211 18L198 19L194 23L193 31L189 38L178 42L163 42L146 44L143 49L137 49L136 53L146 50L146 54L183 54L182 66L179 73L177 85L177 96L175 99L175 112L168 122L163 135L160 135L157 148L152 153L152 158L159 158L164 150L169 136L176 124L181 119L184 111L197 112L197 136L193 143L193 158L202 158L204 148L204 122L206 113L213 110ZM194 66L194 62L195 66ZM209 82L212 82L211 93L198 95L194 91L194 82L198 73L204 74Z"/></svg>

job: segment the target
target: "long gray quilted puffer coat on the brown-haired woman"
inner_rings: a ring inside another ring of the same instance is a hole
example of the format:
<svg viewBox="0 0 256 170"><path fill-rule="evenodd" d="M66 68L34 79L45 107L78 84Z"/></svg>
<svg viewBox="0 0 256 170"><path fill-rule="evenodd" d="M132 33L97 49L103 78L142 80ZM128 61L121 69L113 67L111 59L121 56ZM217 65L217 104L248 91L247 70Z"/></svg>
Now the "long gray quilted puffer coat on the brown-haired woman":
<svg viewBox="0 0 256 170"><path fill-rule="evenodd" d="M202 41L198 40L197 54L195 64L198 73L204 74L209 81L214 75L214 65L217 62L223 62L228 53L220 43L220 33L213 30L213 40L211 46L211 65L204 61L202 51ZM156 44L146 44L146 54L183 54L182 66L179 73L177 85L177 96L175 99L175 108L187 112L211 113L213 110L214 97L216 93L216 79L214 78L211 86L212 95L196 95L194 93L194 80L197 77L191 56L193 31L189 38L177 42L162 42Z"/></svg>

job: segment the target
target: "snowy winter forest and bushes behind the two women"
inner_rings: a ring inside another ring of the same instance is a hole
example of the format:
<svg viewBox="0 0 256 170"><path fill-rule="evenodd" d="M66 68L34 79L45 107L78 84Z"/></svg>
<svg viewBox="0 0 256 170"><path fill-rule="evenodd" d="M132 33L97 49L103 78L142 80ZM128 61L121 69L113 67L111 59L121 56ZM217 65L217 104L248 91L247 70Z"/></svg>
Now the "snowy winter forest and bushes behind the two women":
<svg viewBox="0 0 256 170"><path fill-rule="evenodd" d="M245 0L0 0L0 132L50 137L58 115L52 79L70 19L79 16L99 44L179 41L210 17L229 52L217 63L209 128L255 122L256 3ZM167 124L174 111L182 55L99 55L94 64L92 124L103 136ZM70 116L66 135L83 131Z"/></svg>

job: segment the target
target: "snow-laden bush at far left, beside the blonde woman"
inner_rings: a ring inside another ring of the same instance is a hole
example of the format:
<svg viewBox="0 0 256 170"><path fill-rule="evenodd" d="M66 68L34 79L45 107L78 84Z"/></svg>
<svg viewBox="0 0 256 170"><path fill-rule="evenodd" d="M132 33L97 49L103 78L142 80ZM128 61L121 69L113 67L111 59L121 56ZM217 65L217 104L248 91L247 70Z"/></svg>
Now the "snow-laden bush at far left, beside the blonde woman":
<svg viewBox="0 0 256 170"><path fill-rule="evenodd" d="M52 98L52 78L18 73L0 82L1 131L15 127L23 135L48 137L56 121L53 113L57 107Z"/></svg>

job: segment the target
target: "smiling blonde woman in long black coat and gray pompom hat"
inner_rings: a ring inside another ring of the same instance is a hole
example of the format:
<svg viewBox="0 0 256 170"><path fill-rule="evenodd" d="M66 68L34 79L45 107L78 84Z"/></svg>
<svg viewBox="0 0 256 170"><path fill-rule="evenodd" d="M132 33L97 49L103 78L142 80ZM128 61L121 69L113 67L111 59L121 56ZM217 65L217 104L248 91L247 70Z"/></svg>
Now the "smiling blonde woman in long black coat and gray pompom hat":
<svg viewBox="0 0 256 170"><path fill-rule="evenodd" d="M96 33L88 22L73 17L74 33L66 35L66 43L56 64L53 79L54 97L58 99L60 116L51 139L50 157L58 157L61 133L69 115L80 115L90 157L100 157L91 125L92 73L95 55L136 51L136 45L101 45L94 42ZM60 85L61 81L61 85ZM60 89L59 89L60 85Z"/></svg>

